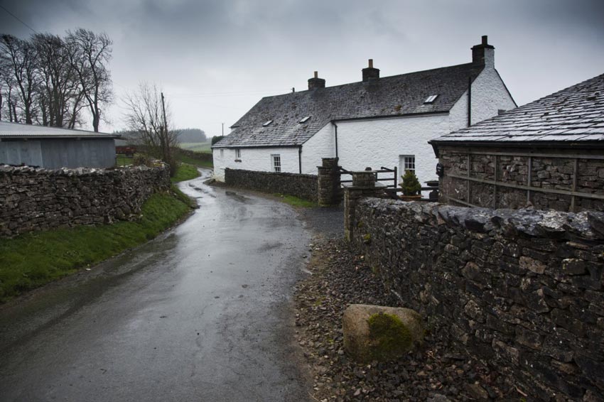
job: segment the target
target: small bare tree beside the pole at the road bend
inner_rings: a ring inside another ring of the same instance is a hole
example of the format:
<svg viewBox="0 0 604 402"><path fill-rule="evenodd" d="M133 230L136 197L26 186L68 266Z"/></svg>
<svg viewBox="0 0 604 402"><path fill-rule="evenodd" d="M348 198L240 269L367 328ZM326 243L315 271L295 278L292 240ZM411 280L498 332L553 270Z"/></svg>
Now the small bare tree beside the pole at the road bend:
<svg viewBox="0 0 604 402"><path fill-rule="evenodd" d="M153 158L168 163L176 172L173 148L178 146L178 133L171 129L170 105L165 104L161 89L142 82L139 89L124 98L128 128Z"/></svg>

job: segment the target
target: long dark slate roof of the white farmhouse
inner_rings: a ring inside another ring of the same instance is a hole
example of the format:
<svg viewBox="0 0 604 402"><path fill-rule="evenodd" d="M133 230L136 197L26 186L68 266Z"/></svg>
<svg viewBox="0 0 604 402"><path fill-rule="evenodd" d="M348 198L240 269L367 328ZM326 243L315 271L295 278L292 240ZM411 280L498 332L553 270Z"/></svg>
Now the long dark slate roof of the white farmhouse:
<svg viewBox="0 0 604 402"><path fill-rule="evenodd" d="M332 120L448 112L482 68L467 63L264 97L212 148L299 146ZM430 95L438 97L424 104Z"/></svg>

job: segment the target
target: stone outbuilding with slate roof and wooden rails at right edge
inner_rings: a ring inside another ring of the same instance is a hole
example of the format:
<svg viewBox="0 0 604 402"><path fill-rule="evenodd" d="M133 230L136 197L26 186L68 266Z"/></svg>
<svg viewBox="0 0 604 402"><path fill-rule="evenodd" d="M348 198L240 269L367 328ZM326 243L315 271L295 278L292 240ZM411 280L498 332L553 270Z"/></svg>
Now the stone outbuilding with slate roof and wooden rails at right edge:
<svg viewBox="0 0 604 402"><path fill-rule="evenodd" d="M441 201L604 210L604 75L430 141Z"/></svg>

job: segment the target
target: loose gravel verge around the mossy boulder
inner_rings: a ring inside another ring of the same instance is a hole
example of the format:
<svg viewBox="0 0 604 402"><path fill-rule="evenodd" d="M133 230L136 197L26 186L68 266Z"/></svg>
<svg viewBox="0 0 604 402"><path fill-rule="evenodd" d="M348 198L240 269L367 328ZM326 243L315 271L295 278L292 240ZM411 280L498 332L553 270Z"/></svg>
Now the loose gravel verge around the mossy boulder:
<svg viewBox="0 0 604 402"><path fill-rule="evenodd" d="M313 374L316 401L520 401L497 371L428 333L424 344L389 363L356 364L343 350L343 311L352 303L404 307L363 256L343 240L311 245L312 275L296 286L296 340Z"/></svg>

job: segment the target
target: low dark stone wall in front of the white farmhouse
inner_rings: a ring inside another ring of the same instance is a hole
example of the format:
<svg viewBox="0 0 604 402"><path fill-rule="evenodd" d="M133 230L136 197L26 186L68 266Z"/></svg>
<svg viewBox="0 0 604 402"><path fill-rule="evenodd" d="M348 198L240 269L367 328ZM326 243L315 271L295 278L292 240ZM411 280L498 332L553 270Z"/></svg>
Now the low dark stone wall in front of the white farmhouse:
<svg viewBox="0 0 604 402"><path fill-rule="evenodd" d="M225 169L225 184L227 185L271 194L295 195L313 202L318 200L317 182L316 175Z"/></svg>

